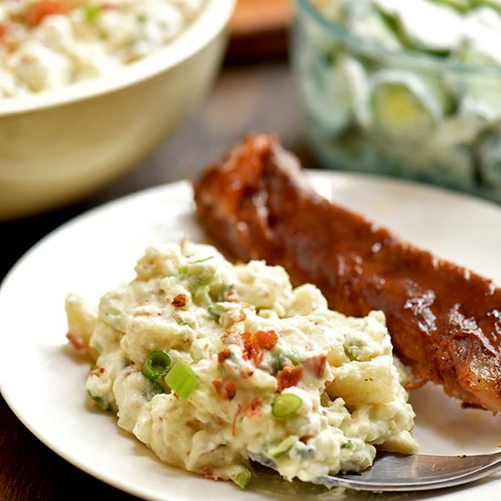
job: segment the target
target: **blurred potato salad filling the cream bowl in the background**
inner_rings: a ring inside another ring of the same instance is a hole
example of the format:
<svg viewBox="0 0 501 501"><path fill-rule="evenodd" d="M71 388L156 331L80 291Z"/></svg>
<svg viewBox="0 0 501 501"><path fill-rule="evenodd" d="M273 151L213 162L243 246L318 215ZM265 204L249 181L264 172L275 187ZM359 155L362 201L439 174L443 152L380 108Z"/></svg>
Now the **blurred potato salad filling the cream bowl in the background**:
<svg viewBox="0 0 501 501"><path fill-rule="evenodd" d="M203 0L3 0L0 97L98 77L168 44Z"/></svg>

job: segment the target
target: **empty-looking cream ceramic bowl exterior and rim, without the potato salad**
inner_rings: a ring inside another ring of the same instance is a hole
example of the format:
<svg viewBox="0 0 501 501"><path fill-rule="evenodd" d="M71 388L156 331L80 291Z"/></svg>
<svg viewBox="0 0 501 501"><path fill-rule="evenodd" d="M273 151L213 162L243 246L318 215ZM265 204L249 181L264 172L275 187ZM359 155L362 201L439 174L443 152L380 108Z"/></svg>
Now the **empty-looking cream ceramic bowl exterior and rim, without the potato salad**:
<svg viewBox="0 0 501 501"><path fill-rule="evenodd" d="M168 46L123 70L0 99L0 220L55 208L145 158L215 77L235 0L206 0Z"/></svg>

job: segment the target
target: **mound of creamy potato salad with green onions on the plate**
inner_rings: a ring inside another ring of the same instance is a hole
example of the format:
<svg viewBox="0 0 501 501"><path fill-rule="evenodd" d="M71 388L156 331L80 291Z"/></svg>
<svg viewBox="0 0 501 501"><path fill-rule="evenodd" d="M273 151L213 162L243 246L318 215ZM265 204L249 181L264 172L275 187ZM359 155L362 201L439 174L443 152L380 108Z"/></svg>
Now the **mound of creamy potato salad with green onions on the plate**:
<svg viewBox="0 0 501 501"><path fill-rule="evenodd" d="M255 456L314 482L416 451L383 312L333 312L280 266L209 245L150 247L136 274L98 308L69 294L67 336L96 358L89 398L162 461L243 488Z"/></svg>

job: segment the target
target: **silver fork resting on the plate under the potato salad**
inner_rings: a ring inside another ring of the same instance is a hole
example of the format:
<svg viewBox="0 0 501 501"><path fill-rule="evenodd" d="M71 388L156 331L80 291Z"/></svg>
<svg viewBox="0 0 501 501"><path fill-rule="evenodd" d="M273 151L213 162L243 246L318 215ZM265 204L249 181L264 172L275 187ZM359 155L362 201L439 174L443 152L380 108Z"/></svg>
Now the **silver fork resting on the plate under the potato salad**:
<svg viewBox="0 0 501 501"><path fill-rule="evenodd" d="M267 457L250 456L256 463L276 469ZM459 486L498 471L501 471L501 452L487 455L378 453L373 466L360 474L322 475L313 483L361 491L424 491Z"/></svg>

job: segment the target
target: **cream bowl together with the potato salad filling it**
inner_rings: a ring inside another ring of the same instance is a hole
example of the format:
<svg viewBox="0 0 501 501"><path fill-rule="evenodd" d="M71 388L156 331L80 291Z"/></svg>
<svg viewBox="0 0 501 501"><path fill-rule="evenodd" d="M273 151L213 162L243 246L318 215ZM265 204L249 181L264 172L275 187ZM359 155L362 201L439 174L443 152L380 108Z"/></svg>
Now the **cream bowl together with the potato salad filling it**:
<svg viewBox="0 0 501 501"><path fill-rule="evenodd" d="M210 87L234 0L0 2L0 220L145 158Z"/></svg>

